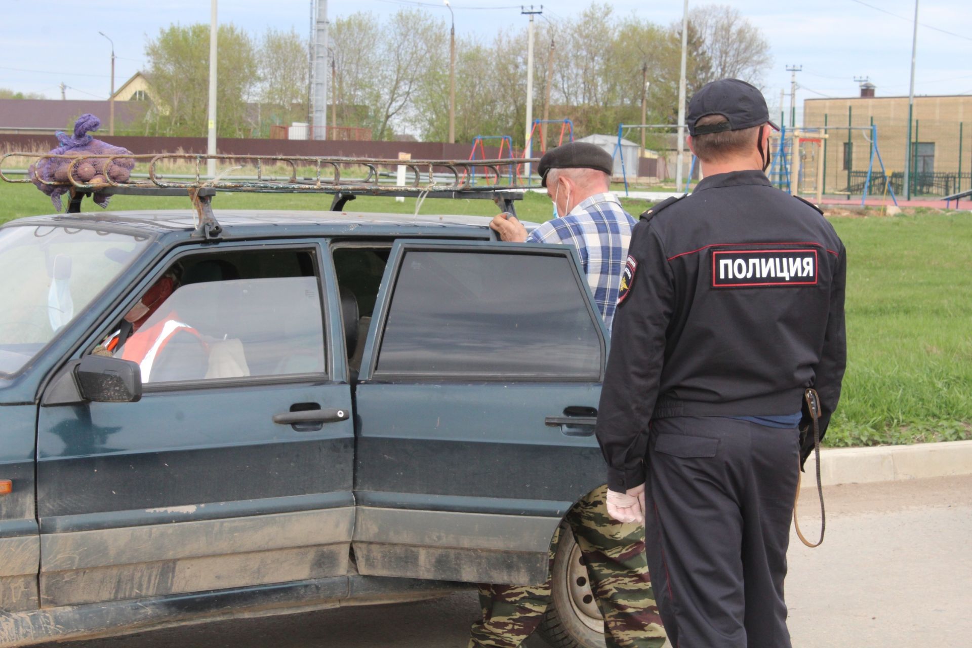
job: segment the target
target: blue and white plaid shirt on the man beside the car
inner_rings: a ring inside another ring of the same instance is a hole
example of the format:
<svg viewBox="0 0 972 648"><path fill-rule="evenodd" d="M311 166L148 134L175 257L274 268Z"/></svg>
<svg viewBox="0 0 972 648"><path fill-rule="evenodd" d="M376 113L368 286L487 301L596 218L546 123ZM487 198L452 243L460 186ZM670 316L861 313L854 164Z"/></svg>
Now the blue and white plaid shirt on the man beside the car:
<svg viewBox="0 0 972 648"><path fill-rule="evenodd" d="M569 243L577 249L608 332L634 226L635 220L613 193L596 193L567 216L544 222L527 237L528 243Z"/></svg>

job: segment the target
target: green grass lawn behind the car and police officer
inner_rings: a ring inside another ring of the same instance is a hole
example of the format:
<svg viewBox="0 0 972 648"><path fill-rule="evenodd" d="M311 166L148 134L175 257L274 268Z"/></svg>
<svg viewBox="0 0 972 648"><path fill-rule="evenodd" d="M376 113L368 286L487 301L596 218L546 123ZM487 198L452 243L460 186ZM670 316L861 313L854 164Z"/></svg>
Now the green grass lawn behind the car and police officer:
<svg viewBox="0 0 972 648"><path fill-rule="evenodd" d="M649 203L622 198L632 215ZM309 209L330 197L220 194L217 209ZM32 186L0 183L0 222L52 213ZM115 196L113 210L188 209L189 199ZM355 211L412 214L415 200L366 196ZM95 208L97 209L97 208ZM549 198L517 202L528 221L551 216ZM426 200L423 214L493 216L489 200ZM918 210L831 219L848 249L848 371L832 446L972 438L972 213Z"/></svg>

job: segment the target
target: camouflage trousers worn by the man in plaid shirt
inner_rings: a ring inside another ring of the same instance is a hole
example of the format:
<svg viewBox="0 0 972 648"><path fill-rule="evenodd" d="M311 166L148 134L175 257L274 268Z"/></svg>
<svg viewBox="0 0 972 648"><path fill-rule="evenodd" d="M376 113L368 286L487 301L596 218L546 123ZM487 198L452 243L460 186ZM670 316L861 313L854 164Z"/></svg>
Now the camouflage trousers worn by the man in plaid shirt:
<svg viewBox="0 0 972 648"><path fill-rule="evenodd" d="M608 648L661 648L665 643L644 556L644 528L608 517L603 486L581 499L565 521L573 530L591 590L605 618ZM550 548L557 551L559 529ZM517 648L540 625L550 604L542 585L481 585L482 618L472 624L469 648Z"/></svg>

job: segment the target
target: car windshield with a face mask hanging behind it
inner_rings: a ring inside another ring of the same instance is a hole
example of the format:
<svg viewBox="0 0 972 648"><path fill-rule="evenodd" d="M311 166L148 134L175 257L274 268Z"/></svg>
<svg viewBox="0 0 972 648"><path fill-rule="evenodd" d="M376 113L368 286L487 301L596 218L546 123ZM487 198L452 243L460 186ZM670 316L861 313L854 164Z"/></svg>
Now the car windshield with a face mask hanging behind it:
<svg viewBox="0 0 972 648"><path fill-rule="evenodd" d="M147 243L78 227L0 229L0 373L36 356Z"/></svg>

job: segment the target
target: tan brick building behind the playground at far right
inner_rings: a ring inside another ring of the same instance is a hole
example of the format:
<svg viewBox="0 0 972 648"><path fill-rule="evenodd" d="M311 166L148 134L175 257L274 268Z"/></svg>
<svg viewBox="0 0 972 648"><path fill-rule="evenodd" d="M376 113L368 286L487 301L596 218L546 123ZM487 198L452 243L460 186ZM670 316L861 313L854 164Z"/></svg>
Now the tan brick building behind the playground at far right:
<svg viewBox="0 0 972 648"><path fill-rule="evenodd" d="M934 182L927 176L927 192L944 194L958 190L955 174L961 171L962 188L972 182L972 95L943 95L915 97L912 117L912 174L934 173ZM908 141L908 97L875 96L875 86L865 83L861 96L844 99L807 99L804 102L804 124L807 129L831 126L827 129L826 190L839 192L859 182L854 178L866 172L871 155L870 133L833 126L870 126L878 129L878 148L885 169L895 176L905 167ZM959 140L959 132L962 138ZM960 161L959 161L960 160ZM881 168L877 158L875 171ZM856 173L855 173L856 172ZM945 174L955 176L944 178ZM934 185L934 187L932 187ZM925 191L921 191L925 192Z"/></svg>

